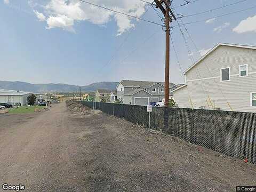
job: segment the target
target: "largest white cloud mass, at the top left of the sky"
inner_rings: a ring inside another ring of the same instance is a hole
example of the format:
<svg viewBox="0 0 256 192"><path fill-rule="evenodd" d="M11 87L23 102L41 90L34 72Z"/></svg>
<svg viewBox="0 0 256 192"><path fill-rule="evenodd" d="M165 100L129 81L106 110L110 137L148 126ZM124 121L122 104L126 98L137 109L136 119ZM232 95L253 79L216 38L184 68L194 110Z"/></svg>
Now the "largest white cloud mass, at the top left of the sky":
<svg viewBox="0 0 256 192"><path fill-rule="evenodd" d="M29 0L30 4L31 1L36 0ZM95 0L93 3L135 17L141 17L145 12L146 6L145 3L138 0ZM36 16L37 18L38 16L40 17L40 19L38 18L39 20L43 19L42 15L44 15L47 29L58 27L74 31L73 27L76 21L88 21L101 26L111 20L115 20L118 26L117 35L121 35L135 26L131 17L101 9L77 0L49 0L43 6L44 14L38 15L37 13Z"/></svg>

